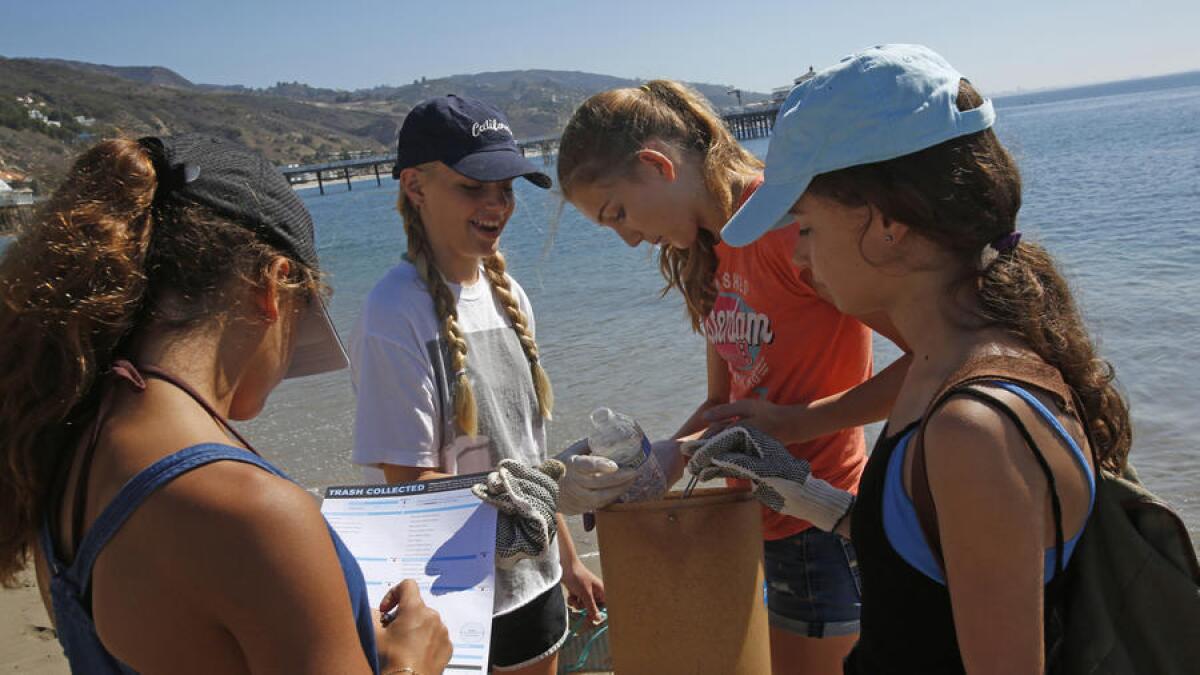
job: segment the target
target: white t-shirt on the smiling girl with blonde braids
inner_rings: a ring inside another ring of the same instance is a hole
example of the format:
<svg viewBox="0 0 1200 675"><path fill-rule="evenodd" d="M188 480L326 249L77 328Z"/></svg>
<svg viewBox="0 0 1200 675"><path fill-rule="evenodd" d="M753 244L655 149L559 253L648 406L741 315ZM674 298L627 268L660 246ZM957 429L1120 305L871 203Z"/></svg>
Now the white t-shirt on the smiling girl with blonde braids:
<svg viewBox="0 0 1200 675"><path fill-rule="evenodd" d="M509 287L534 330L524 289ZM467 377L475 394L479 435L486 444L457 438L454 372L433 298L409 262L394 267L367 295L350 339L358 406L354 464L368 483L383 483L379 464L487 471L502 459L536 465L546 459L546 430L529 362L487 276L470 286L448 283L457 299L458 327L467 341ZM464 450L466 448L466 450ZM558 583L558 546L540 560L497 569L494 614L506 614Z"/></svg>

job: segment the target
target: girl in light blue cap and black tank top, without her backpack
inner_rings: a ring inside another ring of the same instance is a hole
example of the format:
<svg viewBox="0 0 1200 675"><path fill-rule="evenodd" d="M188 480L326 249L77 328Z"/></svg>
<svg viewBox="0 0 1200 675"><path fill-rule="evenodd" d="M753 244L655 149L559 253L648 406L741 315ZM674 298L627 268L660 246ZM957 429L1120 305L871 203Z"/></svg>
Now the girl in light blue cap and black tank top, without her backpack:
<svg viewBox="0 0 1200 675"><path fill-rule="evenodd" d="M1020 241L994 120L925 47L848 56L792 90L766 180L722 232L745 245L798 221L794 258L838 309L884 312L913 352L852 507L749 428L690 464L751 479L781 513L848 510L834 530L858 550L864 605L846 673L1052 667L1094 464L1129 452L1111 366L1054 259Z"/></svg>

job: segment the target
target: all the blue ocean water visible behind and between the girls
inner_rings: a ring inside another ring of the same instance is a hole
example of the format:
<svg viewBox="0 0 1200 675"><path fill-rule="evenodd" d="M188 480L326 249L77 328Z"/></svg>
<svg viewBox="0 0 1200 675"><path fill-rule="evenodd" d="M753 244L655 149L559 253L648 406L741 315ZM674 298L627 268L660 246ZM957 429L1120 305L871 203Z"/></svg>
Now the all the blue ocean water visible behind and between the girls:
<svg viewBox="0 0 1200 675"><path fill-rule="evenodd" d="M1198 537L1200 462L1188 430L1200 413L1200 86L1002 107L997 132L1025 180L1020 227L1057 255L1130 400L1134 461ZM764 155L767 142L748 147ZM672 432L704 398L704 345L678 294L659 297L652 252L626 247L553 192L517 181L516 195L502 249L533 301L554 383L551 446L584 435L599 405L636 416L652 436ZM403 252L396 186L302 196L348 336L364 295ZM878 365L895 354L877 341ZM246 426L304 484L354 482L353 406L346 372L286 382Z"/></svg>

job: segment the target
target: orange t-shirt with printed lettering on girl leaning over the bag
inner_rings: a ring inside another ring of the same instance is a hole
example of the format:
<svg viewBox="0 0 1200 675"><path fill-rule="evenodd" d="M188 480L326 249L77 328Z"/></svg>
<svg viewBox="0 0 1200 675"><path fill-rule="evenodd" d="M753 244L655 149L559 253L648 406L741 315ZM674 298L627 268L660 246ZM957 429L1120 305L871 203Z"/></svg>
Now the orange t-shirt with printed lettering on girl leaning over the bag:
<svg viewBox="0 0 1200 675"><path fill-rule="evenodd" d="M760 177L739 207L762 185ZM716 245L716 301L704 336L730 370L730 401L815 401L871 376L871 331L817 297L792 264L799 226L775 229L749 246ZM812 474L835 488L858 491L866 461L862 428L844 429L787 447L806 459ZM748 485L730 480L731 485ZM782 539L811 524L766 507L763 537Z"/></svg>

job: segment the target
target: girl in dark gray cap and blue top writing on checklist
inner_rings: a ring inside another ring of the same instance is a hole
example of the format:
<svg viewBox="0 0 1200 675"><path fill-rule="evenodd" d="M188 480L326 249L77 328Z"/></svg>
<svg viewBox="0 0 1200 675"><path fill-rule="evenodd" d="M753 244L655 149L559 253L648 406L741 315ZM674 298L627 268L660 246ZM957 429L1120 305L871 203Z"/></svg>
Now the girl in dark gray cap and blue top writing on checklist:
<svg viewBox="0 0 1200 675"><path fill-rule="evenodd" d="M76 673L440 673L406 581L367 604L301 486L228 422L344 368L313 225L199 135L83 153L0 259L0 581L32 549Z"/></svg>

